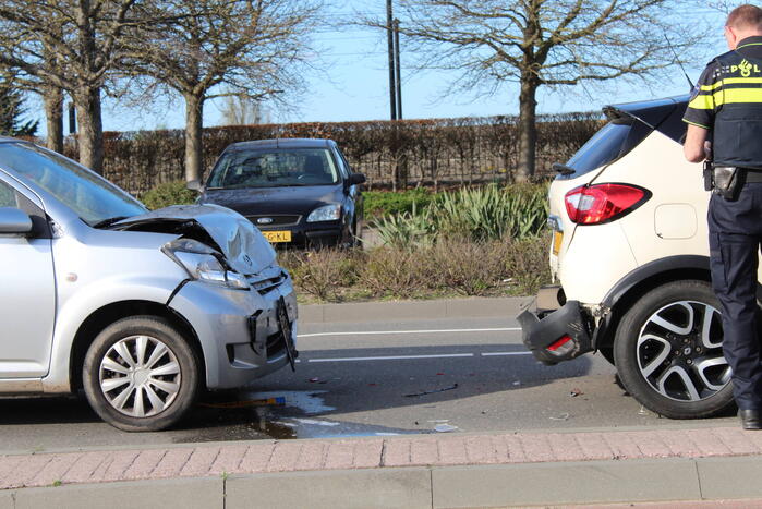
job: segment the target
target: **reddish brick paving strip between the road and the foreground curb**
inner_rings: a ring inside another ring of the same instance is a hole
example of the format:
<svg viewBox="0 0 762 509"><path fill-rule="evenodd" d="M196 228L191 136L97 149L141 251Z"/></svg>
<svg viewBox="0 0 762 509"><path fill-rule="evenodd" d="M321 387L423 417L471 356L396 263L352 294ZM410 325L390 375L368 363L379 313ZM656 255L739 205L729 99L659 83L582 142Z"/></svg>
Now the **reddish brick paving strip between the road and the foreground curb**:
<svg viewBox="0 0 762 509"><path fill-rule="evenodd" d="M0 489L227 474L762 455L738 427L437 434L0 456Z"/></svg>

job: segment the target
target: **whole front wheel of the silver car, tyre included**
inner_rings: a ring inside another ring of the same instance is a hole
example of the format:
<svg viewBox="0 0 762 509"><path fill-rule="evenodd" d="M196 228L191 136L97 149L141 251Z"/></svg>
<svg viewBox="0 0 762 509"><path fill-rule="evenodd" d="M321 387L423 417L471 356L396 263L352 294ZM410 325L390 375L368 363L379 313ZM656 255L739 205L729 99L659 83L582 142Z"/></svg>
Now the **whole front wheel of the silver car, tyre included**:
<svg viewBox="0 0 762 509"><path fill-rule="evenodd" d="M95 338L85 355L83 386L93 410L112 426L159 431L193 407L198 366L188 339L168 320L134 316Z"/></svg>

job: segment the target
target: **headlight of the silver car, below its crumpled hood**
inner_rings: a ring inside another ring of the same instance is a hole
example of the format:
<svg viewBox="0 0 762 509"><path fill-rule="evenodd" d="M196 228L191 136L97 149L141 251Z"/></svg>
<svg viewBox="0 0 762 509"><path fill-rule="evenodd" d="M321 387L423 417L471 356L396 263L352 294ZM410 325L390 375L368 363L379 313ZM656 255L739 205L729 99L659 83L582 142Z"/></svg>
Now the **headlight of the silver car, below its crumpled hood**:
<svg viewBox="0 0 762 509"><path fill-rule="evenodd" d="M221 262L222 255L193 239L177 239L166 243L161 251L198 281L249 290L249 281L242 275L228 270Z"/></svg>

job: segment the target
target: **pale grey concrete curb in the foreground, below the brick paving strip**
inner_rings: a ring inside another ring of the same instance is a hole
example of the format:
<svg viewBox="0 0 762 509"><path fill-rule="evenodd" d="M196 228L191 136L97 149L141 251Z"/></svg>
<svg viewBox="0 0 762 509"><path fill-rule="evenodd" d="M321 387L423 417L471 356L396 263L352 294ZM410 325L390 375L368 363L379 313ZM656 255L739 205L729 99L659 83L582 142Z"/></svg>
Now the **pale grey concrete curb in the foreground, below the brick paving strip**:
<svg viewBox="0 0 762 509"><path fill-rule="evenodd" d="M471 508L762 497L760 457L398 468L0 492L0 509Z"/></svg>

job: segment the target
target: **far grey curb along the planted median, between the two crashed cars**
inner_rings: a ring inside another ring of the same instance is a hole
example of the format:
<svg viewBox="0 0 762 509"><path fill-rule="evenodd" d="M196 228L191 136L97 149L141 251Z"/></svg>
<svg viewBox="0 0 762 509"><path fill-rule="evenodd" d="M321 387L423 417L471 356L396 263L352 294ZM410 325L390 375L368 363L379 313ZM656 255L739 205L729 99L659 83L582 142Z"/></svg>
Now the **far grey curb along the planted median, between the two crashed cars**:
<svg viewBox="0 0 762 509"><path fill-rule="evenodd" d="M355 302L347 304L305 304L299 306L302 324L341 322L388 322L470 317L515 317L532 298L472 298L436 301Z"/></svg>

